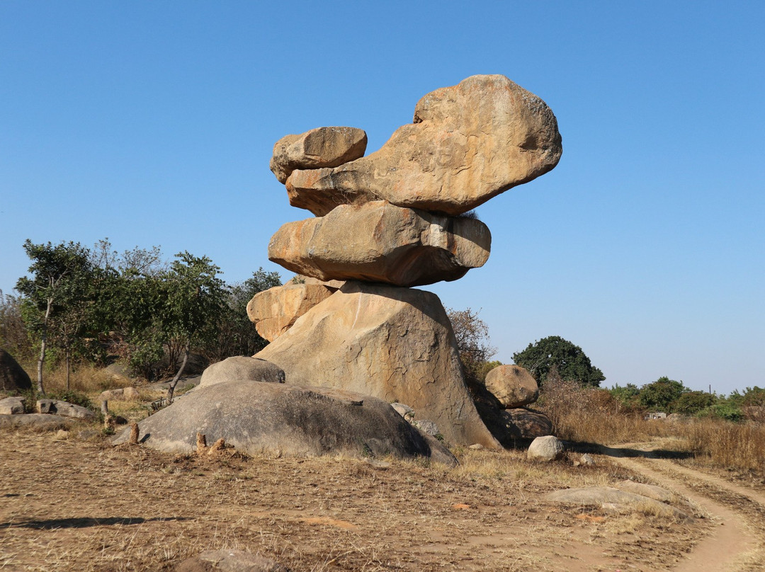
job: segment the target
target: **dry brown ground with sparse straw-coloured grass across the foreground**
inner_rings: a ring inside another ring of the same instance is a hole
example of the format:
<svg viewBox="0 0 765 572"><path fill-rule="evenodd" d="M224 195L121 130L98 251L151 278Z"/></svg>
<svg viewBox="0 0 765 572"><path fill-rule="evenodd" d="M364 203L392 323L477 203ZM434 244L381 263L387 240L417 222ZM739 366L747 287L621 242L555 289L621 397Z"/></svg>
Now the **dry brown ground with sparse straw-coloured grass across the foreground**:
<svg viewBox="0 0 765 572"><path fill-rule="evenodd" d="M680 570L708 547L733 551L731 569L763 563L760 501L722 480L699 485L695 473L665 460L595 455L595 466L574 466L574 453L545 464L522 451L457 450L462 464L449 470L230 451L176 457L112 447L93 427L79 437L5 431L0 440L2 570L173 570L213 548L259 553L296 571ZM687 489L697 518L540 500L553 489L626 478ZM716 535L721 518L741 524L737 538Z"/></svg>

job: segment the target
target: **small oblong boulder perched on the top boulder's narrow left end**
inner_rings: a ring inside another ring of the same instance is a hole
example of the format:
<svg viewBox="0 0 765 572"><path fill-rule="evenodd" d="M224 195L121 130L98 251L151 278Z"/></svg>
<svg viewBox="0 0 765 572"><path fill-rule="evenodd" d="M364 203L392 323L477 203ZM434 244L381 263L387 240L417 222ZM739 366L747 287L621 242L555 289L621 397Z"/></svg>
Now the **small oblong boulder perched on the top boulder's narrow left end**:
<svg viewBox="0 0 765 572"><path fill-rule="evenodd" d="M355 127L319 127L285 135L274 145L271 171L284 183L295 169L337 167L364 156L366 133Z"/></svg>

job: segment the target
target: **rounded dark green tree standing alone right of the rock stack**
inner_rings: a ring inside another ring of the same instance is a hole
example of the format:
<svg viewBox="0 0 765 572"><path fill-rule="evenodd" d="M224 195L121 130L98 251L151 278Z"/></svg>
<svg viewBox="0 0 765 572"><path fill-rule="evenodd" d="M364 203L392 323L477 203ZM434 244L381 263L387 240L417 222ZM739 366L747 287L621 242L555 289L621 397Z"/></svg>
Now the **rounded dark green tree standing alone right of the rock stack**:
<svg viewBox="0 0 765 572"><path fill-rule="evenodd" d="M543 385L552 371L557 371L563 381L599 387L606 378L581 347L560 336L548 336L513 354L518 366L529 370L539 385Z"/></svg>

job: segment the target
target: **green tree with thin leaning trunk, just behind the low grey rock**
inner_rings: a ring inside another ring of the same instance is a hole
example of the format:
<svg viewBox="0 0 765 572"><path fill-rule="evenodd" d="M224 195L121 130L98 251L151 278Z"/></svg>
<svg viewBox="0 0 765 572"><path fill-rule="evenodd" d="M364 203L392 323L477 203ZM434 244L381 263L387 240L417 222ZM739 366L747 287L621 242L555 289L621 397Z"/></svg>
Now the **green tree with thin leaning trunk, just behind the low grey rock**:
<svg viewBox="0 0 765 572"><path fill-rule="evenodd" d="M168 401L173 401L175 386L188 362L191 346L203 343L205 335L214 333L205 326L216 322L223 309L225 283L218 278L220 268L207 256L179 252L164 282L165 304L161 315L162 330L168 346L181 347L183 361L168 386ZM170 352L174 363L173 352Z"/></svg>

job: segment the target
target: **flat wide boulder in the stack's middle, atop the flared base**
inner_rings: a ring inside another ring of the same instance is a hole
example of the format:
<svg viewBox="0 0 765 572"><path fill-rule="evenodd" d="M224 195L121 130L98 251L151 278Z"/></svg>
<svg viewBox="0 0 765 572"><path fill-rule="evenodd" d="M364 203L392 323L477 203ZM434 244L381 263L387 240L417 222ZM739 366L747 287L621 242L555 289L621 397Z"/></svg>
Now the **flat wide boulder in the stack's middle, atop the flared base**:
<svg viewBox="0 0 765 572"><path fill-rule="evenodd" d="M420 286L461 278L489 258L480 220L373 201L287 223L269 242L269 260L320 280Z"/></svg>

